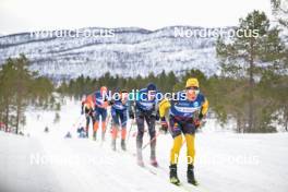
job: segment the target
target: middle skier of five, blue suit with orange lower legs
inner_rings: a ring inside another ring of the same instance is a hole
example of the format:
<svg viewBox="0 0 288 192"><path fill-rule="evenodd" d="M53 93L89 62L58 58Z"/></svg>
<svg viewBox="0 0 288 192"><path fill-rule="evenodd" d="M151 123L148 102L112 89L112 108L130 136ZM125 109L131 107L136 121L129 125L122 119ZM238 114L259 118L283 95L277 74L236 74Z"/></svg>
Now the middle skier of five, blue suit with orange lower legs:
<svg viewBox="0 0 288 192"><path fill-rule="evenodd" d="M119 95L110 101L111 117L112 117L112 149L116 151L116 140L118 131L121 128L121 148L127 149L125 136L127 136L127 120L128 120L128 91L122 89Z"/></svg>

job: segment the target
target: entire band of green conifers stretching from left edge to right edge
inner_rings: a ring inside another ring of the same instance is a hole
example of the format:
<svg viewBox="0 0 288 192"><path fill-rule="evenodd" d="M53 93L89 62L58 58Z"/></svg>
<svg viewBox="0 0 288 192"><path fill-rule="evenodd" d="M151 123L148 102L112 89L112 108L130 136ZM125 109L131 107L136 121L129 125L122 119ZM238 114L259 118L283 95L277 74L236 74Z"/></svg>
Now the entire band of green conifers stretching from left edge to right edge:
<svg viewBox="0 0 288 192"><path fill-rule="evenodd" d="M285 23L280 24L287 28ZM236 29L256 29L259 36L219 37L216 57L220 74L213 76L195 69L182 75L172 71L136 77L106 73L97 79L81 75L62 81L56 88L49 79L28 70L29 62L25 56L10 58L0 68L0 122L14 128L17 133L20 125L25 124L24 112L28 106L45 109L57 106L60 109L53 92L81 98L103 85L111 91L132 91L143 88L149 82L163 93L178 92L184 88L187 79L195 76L209 100L211 112L221 124L232 119L237 132L276 132L277 128L288 131L287 37L280 37L280 29L271 26L265 13L260 11L241 19Z"/></svg>

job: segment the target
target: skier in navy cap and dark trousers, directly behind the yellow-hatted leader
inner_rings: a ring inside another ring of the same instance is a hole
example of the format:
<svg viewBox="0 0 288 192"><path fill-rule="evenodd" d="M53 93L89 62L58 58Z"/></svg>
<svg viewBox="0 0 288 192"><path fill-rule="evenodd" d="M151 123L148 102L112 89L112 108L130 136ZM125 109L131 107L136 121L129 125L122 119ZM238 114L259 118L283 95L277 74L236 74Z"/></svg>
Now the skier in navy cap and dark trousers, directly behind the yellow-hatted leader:
<svg viewBox="0 0 288 192"><path fill-rule="evenodd" d="M157 94L160 94L157 91L155 84L149 83L146 88L141 89L135 98L135 116L137 124L137 136L136 136L136 154L137 154L137 164L139 166L144 166L142 157L142 145L143 145L143 135L145 122L148 127L148 133L151 137L151 164L155 167L158 166L156 160L156 130L155 121L157 116L157 104L158 99ZM130 117L132 115L130 113Z"/></svg>

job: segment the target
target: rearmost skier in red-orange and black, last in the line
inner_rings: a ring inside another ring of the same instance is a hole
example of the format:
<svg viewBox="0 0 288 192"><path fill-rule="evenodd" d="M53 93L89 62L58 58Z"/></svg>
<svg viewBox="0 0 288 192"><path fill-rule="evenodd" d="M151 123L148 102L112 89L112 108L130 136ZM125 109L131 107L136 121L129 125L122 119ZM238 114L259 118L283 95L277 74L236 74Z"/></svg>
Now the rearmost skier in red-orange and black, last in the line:
<svg viewBox="0 0 288 192"><path fill-rule="evenodd" d="M86 118L86 137L88 137L88 133L89 133L89 122L92 120L92 124L95 124L95 117L93 115L94 112L94 97L93 95L87 95L85 98L83 98L82 100L82 105L81 105L81 115L85 113L85 118Z"/></svg>

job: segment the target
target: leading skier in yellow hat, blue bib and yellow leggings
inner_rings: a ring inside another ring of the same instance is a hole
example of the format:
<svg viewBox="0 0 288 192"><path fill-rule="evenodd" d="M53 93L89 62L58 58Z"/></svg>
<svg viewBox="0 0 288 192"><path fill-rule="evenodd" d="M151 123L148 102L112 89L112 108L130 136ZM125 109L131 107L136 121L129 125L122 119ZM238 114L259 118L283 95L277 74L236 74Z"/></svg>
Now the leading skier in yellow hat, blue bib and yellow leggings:
<svg viewBox="0 0 288 192"><path fill-rule="evenodd" d="M182 134L187 143L187 179L189 183L197 184L194 177L195 130L201 125L201 121L207 110L208 100L200 93L197 79L189 79L185 84L185 91L177 93L176 98L170 101L164 99L159 104L163 129L167 130L168 123L165 117L169 117L169 131L173 137L170 153L170 182L173 184L180 184L177 176L177 163L182 146Z"/></svg>

